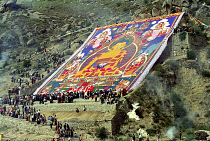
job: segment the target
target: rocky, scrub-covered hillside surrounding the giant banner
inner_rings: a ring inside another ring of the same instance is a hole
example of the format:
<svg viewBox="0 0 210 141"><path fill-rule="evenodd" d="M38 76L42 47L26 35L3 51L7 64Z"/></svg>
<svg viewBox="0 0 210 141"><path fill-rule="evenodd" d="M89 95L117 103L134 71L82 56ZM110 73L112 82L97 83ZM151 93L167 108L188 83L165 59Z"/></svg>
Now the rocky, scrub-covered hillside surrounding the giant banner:
<svg viewBox="0 0 210 141"><path fill-rule="evenodd" d="M0 4L4 2L1 0ZM209 4L209 0L17 0L12 7L4 9L2 6L0 96L8 96L8 89L19 88L19 78L23 80L20 94L32 94L80 47L81 41L84 42L95 27L179 11L189 12L208 25ZM187 31L179 32L185 27ZM83 28L86 30L75 32ZM69 35L60 38L66 34ZM137 136L141 130L150 133L153 139L156 133L166 137L167 129L172 126L177 131L182 130L186 137L200 129L210 130L209 36L209 29L183 16L177 32L169 39L146 79L122 98L116 114L105 113L105 117L111 119L112 114L124 117L119 118L122 125L116 139L130 140L133 133ZM40 75L35 84L32 85L27 73ZM11 78L16 81L12 82ZM139 104L135 113L140 120L127 116L134 103ZM56 111L46 111L46 115L53 112ZM78 118L71 110L68 114ZM83 114L81 120L89 114L93 119L103 117L90 112ZM62 112L58 115L63 120L68 119ZM53 136L51 131L50 134Z"/></svg>

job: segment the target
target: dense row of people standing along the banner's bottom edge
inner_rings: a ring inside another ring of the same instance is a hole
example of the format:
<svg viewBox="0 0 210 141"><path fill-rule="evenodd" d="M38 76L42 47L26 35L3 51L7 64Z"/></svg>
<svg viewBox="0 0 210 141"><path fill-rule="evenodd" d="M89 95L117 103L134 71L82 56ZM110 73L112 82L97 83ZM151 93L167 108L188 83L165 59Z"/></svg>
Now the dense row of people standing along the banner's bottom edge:
<svg viewBox="0 0 210 141"><path fill-rule="evenodd" d="M36 94L36 95L26 95L26 96L10 96L9 98L1 98L0 104L9 104L9 105L32 105L35 101L39 101L40 104L44 104L47 101L53 103L57 101L58 103L73 103L75 98L82 99L95 99L96 101L101 101L101 104L105 102L107 104L116 103L122 95L126 95L126 91L120 91L119 93L112 90L100 90L98 92L83 91L77 92L67 92L67 93L53 93L53 94ZM98 100L99 99L99 100Z"/></svg>

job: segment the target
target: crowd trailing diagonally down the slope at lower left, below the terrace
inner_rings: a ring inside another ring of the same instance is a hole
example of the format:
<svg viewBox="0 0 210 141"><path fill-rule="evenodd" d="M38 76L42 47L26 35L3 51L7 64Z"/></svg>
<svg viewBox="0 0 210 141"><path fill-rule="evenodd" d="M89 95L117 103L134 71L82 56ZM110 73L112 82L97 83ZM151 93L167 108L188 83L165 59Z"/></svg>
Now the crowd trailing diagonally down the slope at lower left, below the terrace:
<svg viewBox="0 0 210 141"><path fill-rule="evenodd" d="M36 96L36 98L40 98L41 96ZM33 99L33 98L32 98ZM6 107L5 104L10 104L11 107ZM36 110L33 104L30 102L30 96L21 97L21 101L12 101L11 103L5 103L0 106L1 115L10 116L18 119L25 119L26 121L36 122L38 125L49 125L51 129L55 130L57 134L57 140L63 138L68 138L71 140L74 138L81 138L81 135L78 136L74 131L73 127L69 127L67 123L62 126L60 121L57 121L56 115L53 113L52 116L48 118L41 114L40 110ZM86 108L84 106L83 110ZM55 128L53 128L53 125Z"/></svg>

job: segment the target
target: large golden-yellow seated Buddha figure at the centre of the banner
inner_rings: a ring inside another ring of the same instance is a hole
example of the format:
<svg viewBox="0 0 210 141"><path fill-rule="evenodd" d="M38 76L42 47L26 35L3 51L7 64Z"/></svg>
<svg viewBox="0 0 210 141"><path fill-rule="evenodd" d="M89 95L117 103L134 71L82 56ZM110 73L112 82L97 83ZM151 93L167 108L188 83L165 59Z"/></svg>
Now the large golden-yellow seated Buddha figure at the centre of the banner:
<svg viewBox="0 0 210 141"><path fill-rule="evenodd" d="M96 77L111 74L120 74L119 68L116 66L127 54L126 42L117 43L108 52L104 52L96 56L87 66L80 70L74 77ZM101 65L103 64L103 65ZM103 66L98 68L98 66Z"/></svg>

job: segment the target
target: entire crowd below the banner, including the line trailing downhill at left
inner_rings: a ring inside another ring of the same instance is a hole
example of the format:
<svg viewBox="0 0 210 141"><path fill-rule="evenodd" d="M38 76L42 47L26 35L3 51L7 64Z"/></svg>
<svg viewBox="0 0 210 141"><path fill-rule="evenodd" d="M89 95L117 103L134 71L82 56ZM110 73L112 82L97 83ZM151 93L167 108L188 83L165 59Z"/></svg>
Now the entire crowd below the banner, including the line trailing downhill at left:
<svg viewBox="0 0 210 141"><path fill-rule="evenodd" d="M56 115L53 114L48 118L41 114L41 111L34 107L34 102L37 101L39 104L44 104L47 101L50 103L73 103L75 98L82 99L92 99L95 102L100 101L101 104L104 104L107 101L107 104L117 103L122 93L116 93L112 90L100 90L96 92L88 91L77 91L77 92L67 92L67 93L53 93L53 94L37 94L37 95L26 95L19 96L13 95L10 98L0 98L0 109L1 115L10 116L18 119L25 119L30 122L36 122L40 125L49 125L51 129L54 129L58 135L57 140L60 138L68 138L71 140L73 137L82 140L82 136L78 136L73 128L69 127L67 123L62 126L62 123L57 121ZM6 107L5 105L9 104L11 107ZM86 111L84 106L83 111ZM76 112L79 112L79 109L76 108ZM54 127L53 127L54 126Z"/></svg>

